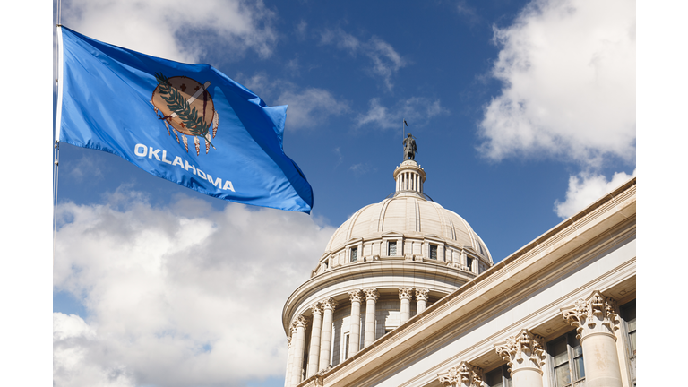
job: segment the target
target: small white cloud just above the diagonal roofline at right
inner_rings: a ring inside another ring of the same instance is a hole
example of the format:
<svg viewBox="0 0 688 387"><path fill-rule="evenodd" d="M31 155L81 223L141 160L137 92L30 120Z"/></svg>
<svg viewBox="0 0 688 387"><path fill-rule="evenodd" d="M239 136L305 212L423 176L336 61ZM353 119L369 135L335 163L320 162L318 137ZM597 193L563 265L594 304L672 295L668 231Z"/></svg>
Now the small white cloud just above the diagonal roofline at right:
<svg viewBox="0 0 688 387"><path fill-rule="evenodd" d="M560 218L570 218L579 211L597 201L606 193L614 191L630 178L635 176L625 172L616 172L610 181L605 176L583 172L579 176L569 176L569 189L566 191L566 200L555 202L555 212Z"/></svg>

